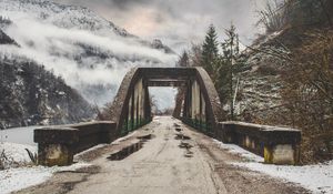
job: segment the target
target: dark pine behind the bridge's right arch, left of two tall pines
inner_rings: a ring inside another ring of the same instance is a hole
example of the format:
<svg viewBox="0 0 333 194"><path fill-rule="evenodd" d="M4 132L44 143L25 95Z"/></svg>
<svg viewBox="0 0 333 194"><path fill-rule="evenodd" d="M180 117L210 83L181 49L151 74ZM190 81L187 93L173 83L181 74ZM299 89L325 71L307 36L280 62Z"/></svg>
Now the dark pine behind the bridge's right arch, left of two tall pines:
<svg viewBox="0 0 333 194"><path fill-rule="evenodd" d="M214 63L219 57L219 42L215 27L211 24L202 45L202 67L209 74L214 72Z"/></svg>

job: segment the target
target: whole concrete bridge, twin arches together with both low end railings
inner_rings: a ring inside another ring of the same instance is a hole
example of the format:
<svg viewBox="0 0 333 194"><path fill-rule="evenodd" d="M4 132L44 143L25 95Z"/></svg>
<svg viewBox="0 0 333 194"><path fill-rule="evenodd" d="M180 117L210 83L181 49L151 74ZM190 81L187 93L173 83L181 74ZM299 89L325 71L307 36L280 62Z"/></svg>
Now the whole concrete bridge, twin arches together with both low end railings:
<svg viewBox="0 0 333 194"><path fill-rule="evenodd" d="M149 86L175 86L173 118L186 127L224 142L233 143L264 157L265 163L299 164L301 132L294 129L226 121L219 94L202 68L134 68L124 76L105 121L48 126L34 131L38 160L42 165L69 165L73 155L101 143L111 143L152 122ZM183 129L174 123L174 130ZM154 130L159 130L155 127ZM150 136L144 134L143 136ZM182 139L182 133L176 133ZM141 136L142 137L142 136ZM131 154L140 141L113 153Z"/></svg>

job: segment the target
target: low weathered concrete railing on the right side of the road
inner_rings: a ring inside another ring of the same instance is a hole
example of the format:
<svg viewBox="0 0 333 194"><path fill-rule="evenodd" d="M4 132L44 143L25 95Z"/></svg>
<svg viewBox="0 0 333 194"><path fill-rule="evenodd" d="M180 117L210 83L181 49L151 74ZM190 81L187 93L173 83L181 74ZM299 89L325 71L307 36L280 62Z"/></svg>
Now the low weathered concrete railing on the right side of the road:
<svg viewBox="0 0 333 194"><path fill-rule="evenodd" d="M301 131L243 122L221 122L216 134L224 143L233 143L264 157L270 164L299 164Z"/></svg>

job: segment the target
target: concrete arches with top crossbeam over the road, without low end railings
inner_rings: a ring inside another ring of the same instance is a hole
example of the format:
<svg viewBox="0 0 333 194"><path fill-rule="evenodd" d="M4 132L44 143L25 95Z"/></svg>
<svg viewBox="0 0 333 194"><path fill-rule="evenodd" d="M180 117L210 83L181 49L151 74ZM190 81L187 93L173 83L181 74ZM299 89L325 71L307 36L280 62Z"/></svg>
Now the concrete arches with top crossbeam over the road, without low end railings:
<svg viewBox="0 0 333 194"><path fill-rule="evenodd" d="M214 136L224 115L219 94L202 68L135 68L123 79L110 109L119 135L127 134L151 121L149 86L178 86L175 118L195 125Z"/></svg>

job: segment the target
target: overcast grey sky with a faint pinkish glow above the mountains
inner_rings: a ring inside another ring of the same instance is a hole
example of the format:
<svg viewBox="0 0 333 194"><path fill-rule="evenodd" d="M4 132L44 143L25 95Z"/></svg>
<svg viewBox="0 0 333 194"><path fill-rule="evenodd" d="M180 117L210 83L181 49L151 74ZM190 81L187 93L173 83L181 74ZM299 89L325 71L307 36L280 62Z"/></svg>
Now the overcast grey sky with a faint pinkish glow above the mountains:
<svg viewBox="0 0 333 194"><path fill-rule="evenodd" d="M202 41L210 23L223 39L233 22L241 41L251 43L256 11L266 0L53 0L88 7L100 16L144 39L161 39L181 51Z"/></svg>

